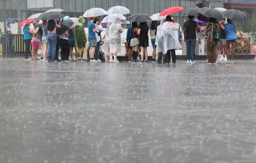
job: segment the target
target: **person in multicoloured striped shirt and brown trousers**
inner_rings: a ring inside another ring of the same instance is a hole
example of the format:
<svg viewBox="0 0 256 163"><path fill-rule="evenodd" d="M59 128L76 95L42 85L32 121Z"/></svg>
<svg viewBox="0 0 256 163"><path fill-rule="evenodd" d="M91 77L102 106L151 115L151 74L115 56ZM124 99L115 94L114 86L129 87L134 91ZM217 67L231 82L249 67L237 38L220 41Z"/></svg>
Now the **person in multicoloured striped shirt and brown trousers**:
<svg viewBox="0 0 256 163"><path fill-rule="evenodd" d="M207 40L207 59L206 64L217 64L216 63L216 50L219 39L216 35L220 35L220 26L217 24L216 19L210 17L209 22L206 25L205 32L208 32ZM218 33L217 33L218 32Z"/></svg>

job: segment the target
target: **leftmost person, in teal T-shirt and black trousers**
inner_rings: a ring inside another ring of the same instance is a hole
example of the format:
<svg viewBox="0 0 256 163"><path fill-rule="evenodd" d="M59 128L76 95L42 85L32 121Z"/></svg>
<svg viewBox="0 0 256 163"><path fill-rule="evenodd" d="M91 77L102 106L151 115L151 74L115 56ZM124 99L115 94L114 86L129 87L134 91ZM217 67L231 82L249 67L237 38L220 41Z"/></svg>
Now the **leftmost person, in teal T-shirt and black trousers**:
<svg viewBox="0 0 256 163"><path fill-rule="evenodd" d="M34 32L29 28L30 23L26 24L23 27L23 41L25 43L25 60L31 60L28 58L28 54L30 51L30 44L31 44L31 40L32 40L32 34L34 34Z"/></svg>

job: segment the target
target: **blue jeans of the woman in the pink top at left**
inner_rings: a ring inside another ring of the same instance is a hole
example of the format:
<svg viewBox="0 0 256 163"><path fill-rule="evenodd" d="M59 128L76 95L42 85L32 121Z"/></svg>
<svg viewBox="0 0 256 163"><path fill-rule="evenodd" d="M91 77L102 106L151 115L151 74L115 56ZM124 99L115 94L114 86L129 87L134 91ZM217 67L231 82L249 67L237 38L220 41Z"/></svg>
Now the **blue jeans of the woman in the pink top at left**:
<svg viewBox="0 0 256 163"><path fill-rule="evenodd" d="M47 58L50 58L52 61L55 61L55 52L56 52L56 43L57 43L56 33L48 33L47 41L48 41Z"/></svg>

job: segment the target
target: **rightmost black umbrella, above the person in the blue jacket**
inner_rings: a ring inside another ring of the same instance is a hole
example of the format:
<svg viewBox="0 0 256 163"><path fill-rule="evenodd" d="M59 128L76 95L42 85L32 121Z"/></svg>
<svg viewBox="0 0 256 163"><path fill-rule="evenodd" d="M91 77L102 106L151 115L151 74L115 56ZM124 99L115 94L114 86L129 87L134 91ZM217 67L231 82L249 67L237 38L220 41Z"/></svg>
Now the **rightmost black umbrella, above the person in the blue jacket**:
<svg viewBox="0 0 256 163"><path fill-rule="evenodd" d="M230 10L226 10L222 13L224 14L225 17L227 17L228 19L230 19L232 21L243 22L243 21L248 20L245 13L241 12L239 10L230 9Z"/></svg>

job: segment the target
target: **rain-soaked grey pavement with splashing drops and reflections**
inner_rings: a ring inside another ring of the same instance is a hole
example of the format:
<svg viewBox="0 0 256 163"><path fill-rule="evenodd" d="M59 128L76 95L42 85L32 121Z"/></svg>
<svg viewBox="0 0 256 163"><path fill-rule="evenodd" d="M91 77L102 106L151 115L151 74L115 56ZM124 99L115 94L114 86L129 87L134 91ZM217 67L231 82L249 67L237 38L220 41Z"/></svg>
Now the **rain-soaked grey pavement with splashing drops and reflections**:
<svg viewBox="0 0 256 163"><path fill-rule="evenodd" d="M0 58L1 163L256 162L256 62Z"/></svg>

